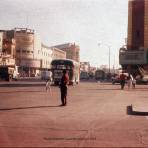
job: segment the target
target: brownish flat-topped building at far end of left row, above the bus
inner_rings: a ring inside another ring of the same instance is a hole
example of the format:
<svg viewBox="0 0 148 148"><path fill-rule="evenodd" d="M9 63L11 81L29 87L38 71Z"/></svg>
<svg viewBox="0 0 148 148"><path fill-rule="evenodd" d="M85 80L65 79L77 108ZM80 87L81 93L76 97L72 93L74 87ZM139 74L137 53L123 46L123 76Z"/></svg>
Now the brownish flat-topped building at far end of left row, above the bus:
<svg viewBox="0 0 148 148"><path fill-rule="evenodd" d="M65 51L67 59L72 59L77 62L80 61L80 55L79 55L80 47L75 43L66 43L66 44L56 45L54 47Z"/></svg>

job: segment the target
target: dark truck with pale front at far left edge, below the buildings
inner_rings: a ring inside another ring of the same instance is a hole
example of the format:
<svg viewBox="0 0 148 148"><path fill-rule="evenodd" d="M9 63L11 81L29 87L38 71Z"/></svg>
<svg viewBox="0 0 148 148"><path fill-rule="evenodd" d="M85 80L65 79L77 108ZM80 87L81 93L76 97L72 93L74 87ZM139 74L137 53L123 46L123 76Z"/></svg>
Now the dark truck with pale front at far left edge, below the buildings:
<svg viewBox="0 0 148 148"><path fill-rule="evenodd" d="M17 80L19 78L18 66L0 66L0 79L6 81Z"/></svg>

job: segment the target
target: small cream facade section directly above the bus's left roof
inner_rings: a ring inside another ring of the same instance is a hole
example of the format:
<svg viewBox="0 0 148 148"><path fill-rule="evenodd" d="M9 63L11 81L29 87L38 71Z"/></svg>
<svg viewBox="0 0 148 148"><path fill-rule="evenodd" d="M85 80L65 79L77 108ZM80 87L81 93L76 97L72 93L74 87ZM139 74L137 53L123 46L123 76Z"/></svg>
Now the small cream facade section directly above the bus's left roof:
<svg viewBox="0 0 148 148"><path fill-rule="evenodd" d="M52 59L66 59L66 52L58 48L52 48Z"/></svg>

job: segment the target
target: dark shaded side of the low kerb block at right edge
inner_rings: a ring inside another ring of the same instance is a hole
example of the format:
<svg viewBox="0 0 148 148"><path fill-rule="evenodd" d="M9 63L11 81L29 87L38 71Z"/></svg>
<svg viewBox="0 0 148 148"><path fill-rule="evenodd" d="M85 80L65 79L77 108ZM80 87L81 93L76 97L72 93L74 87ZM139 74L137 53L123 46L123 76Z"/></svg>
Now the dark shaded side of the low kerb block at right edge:
<svg viewBox="0 0 148 148"><path fill-rule="evenodd" d="M148 112L134 111L132 105L127 106L126 111L127 115L148 116Z"/></svg>

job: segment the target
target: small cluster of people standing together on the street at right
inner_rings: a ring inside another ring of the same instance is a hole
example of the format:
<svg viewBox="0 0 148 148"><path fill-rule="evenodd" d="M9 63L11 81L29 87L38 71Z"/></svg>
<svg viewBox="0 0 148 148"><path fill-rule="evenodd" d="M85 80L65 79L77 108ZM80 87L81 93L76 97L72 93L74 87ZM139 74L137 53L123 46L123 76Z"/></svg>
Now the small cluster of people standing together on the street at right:
<svg viewBox="0 0 148 148"><path fill-rule="evenodd" d="M123 72L120 75L120 84L121 84L121 89L124 89L125 83L127 80L127 85L128 85L128 89L135 88L136 86L136 80L134 79L134 77L131 74L128 74L128 76L126 76Z"/></svg>

